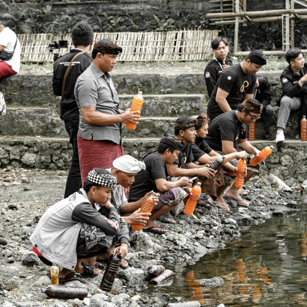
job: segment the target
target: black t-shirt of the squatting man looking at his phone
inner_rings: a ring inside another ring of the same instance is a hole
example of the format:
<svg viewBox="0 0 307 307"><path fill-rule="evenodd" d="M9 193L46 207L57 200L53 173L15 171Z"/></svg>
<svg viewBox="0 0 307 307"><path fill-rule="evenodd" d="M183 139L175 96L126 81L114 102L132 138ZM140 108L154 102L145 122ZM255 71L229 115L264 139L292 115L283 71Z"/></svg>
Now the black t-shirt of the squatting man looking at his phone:
<svg viewBox="0 0 307 307"><path fill-rule="evenodd" d="M146 169L141 169L135 176L134 183L129 190L129 202L141 199L152 190L157 192L158 189L154 182L156 179L165 178L167 180L165 163L161 156L153 152L145 156L143 162Z"/></svg>

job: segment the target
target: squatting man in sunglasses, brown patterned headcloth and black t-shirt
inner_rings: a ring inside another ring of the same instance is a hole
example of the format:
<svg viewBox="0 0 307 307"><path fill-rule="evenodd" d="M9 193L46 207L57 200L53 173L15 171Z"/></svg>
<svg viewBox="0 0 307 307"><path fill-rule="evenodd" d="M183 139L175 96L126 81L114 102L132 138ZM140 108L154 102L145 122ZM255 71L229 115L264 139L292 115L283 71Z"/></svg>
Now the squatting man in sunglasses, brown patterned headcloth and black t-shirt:
<svg viewBox="0 0 307 307"><path fill-rule="evenodd" d="M213 150L229 154L238 150L245 150L248 153L258 155L260 150L247 141L247 126L260 116L262 105L256 99L244 100L238 110L228 111L216 117L208 128L208 135L204 139ZM239 147L239 148L238 148ZM237 166L237 161L231 161L231 164ZM247 175L244 182L249 180L258 170L255 167L247 167ZM229 174L235 177L235 174ZM226 180L225 180L226 182ZM224 189L227 187L225 184ZM239 195L239 188L235 187L233 181L227 191L224 192L224 198L235 200L240 206L248 207L249 203L243 200Z"/></svg>

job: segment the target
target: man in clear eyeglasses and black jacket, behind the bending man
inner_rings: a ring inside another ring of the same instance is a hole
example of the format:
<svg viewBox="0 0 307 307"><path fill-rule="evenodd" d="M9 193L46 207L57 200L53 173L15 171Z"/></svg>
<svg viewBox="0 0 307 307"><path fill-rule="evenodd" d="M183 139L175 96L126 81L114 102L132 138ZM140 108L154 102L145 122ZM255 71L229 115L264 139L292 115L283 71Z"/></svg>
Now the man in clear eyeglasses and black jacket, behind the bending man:
<svg viewBox="0 0 307 307"><path fill-rule="evenodd" d="M226 37L217 37L211 43L213 60L210 60L205 68L205 82L209 98L212 95L217 80L224 69L232 66L231 60L226 60L229 46Z"/></svg>

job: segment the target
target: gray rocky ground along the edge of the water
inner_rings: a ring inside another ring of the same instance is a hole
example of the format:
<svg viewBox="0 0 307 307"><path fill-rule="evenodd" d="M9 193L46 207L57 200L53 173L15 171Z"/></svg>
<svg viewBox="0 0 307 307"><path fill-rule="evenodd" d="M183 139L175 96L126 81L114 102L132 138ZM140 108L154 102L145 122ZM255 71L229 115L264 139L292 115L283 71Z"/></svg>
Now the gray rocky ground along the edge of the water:
<svg viewBox="0 0 307 307"><path fill-rule="evenodd" d="M179 215L176 225L163 224L168 229L166 234L141 231L131 235L126 256L129 268L119 270L114 284L118 294L99 289L103 276L99 274L87 278L87 285L66 283L66 286L87 287L89 294L84 301L49 299L40 288L49 285L50 268L31 251L29 236L46 208L62 198L66 176L65 171L10 167L0 170L0 305L3 307L164 307L172 301L169 294L161 293L158 297L142 293L148 284L149 265L159 263L167 268L170 262L194 263L207 252L223 248L223 242L240 236L242 224L263 223L274 215L295 210L305 193L297 185L290 189L281 185L274 177L256 176L252 185L247 185L246 199L252 203L249 209L232 202L231 213L217 208L203 209L195 218Z"/></svg>

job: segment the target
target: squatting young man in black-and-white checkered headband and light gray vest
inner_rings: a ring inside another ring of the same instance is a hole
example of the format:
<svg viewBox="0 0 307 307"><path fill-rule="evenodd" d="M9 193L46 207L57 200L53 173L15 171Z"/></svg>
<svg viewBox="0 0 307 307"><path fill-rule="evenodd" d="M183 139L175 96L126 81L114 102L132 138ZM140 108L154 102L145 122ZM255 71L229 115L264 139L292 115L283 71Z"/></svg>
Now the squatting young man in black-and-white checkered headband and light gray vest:
<svg viewBox="0 0 307 307"><path fill-rule="evenodd" d="M126 246L119 248L119 256L126 256L128 229L109 201L116 183L116 177L106 169L91 170L83 188L49 207L30 236L33 251L43 263L63 267L60 283L86 283L85 277L99 274L100 270L86 264L89 261L84 258L106 253L117 240ZM101 207L108 217L99 212Z"/></svg>

